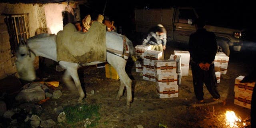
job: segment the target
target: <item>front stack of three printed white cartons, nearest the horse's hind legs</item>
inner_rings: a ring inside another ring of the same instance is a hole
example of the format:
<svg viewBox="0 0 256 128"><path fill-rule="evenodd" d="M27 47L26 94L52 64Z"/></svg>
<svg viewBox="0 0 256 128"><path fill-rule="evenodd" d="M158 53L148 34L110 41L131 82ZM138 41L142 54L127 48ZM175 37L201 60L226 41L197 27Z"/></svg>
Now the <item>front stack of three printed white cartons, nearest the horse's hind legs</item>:
<svg viewBox="0 0 256 128"><path fill-rule="evenodd" d="M176 63L175 60L156 60L154 63L159 98L178 97Z"/></svg>

